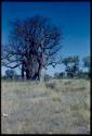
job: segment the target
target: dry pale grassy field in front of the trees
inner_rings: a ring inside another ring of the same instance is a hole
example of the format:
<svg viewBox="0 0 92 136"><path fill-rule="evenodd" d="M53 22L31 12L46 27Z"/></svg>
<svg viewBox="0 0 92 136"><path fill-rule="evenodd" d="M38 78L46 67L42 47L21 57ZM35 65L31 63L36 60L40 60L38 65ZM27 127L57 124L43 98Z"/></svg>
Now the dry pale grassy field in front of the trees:
<svg viewBox="0 0 92 136"><path fill-rule="evenodd" d="M1 83L2 134L90 134L90 82Z"/></svg>

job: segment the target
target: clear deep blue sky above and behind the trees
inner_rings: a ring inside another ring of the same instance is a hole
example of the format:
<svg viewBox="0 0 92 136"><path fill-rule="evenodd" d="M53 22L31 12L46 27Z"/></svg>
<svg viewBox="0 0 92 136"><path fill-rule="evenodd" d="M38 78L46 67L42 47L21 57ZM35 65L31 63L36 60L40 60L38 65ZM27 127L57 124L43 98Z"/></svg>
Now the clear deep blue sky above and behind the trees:
<svg viewBox="0 0 92 136"><path fill-rule="evenodd" d="M90 2L2 2L1 11L2 45L9 42L11 21L42 15L63 32L58 57L90 55ZM4 71L2 67L2 74ZM53 75L61 71L64 71L63 65L49 66L45 73Z"/></svg>

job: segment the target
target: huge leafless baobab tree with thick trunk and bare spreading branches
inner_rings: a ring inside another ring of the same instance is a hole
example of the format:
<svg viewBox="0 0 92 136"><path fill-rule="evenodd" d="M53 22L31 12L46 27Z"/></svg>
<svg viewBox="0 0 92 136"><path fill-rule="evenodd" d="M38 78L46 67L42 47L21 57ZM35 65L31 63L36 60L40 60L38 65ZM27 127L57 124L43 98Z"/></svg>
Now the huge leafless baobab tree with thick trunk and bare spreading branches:
<svg viewBox="0 0 92 136"><path fill-rule="evenodd" d="M21 66L22 77L40 79L42 69L55 66L55 55L61 49L62 33L49 18L35 16L12 23L10 44L2 47L2 65Z"/></svg>

